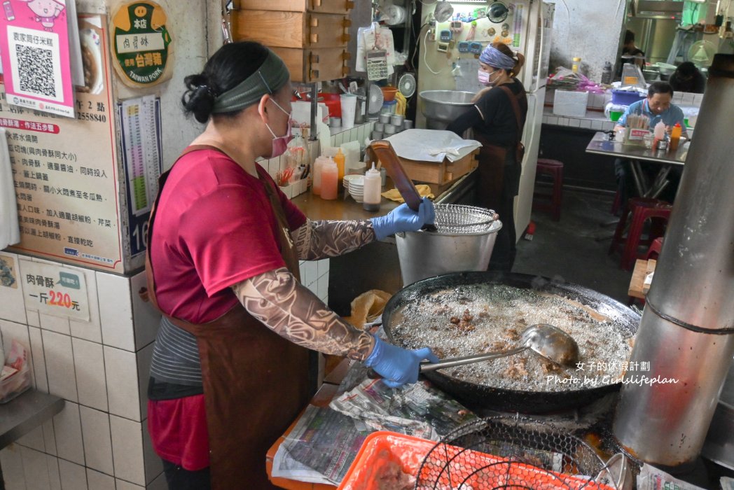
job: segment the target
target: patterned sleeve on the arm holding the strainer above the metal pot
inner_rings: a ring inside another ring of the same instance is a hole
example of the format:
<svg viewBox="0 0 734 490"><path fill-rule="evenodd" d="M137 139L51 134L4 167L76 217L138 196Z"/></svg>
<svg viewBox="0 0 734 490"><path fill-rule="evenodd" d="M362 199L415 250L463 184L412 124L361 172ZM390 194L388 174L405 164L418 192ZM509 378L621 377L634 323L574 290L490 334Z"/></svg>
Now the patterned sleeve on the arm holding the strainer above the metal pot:
<svg viewBox="0 0 734 490"><path fill-rule="evenodd" d="M300 260L319 260L352 252L374 241L369 220L311 221L291 232Z"/></svg>

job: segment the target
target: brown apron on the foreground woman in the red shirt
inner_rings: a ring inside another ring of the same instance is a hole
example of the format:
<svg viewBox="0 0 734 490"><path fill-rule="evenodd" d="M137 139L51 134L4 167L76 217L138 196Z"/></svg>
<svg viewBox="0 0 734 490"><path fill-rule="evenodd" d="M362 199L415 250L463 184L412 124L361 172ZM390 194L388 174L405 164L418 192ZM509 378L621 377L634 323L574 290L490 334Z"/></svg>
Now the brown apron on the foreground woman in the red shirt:
<svg viewBox="0 0 734 490"><path fill-rule="evenodd" d="M217 147L195 145L186 148L181 156L202 149L222 152ZM169 172L159 179L158 197L150 211L145 254L148 299L158 310L150 237L156 205ZM277 219L283 260L299 279L297 255L288 235L283 207L275 189L266 181L263 183ZM265 455L313 395L309 351L272 332L241 304L202 325L165 316L197 337L209 433L211 488L277 488L268 480Z"/></svg>

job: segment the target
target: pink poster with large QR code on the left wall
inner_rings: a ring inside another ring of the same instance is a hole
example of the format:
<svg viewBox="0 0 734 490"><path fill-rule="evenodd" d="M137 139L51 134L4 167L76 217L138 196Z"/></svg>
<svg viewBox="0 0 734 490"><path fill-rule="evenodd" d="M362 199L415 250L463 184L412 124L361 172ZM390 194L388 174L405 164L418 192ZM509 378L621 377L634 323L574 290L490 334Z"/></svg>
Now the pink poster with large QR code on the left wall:
<svg viewBox="0 0 734 490"><path fill-rule="evenodd" d="M74 117L66 1L2 2L0 58L8 103Z"/></svg>

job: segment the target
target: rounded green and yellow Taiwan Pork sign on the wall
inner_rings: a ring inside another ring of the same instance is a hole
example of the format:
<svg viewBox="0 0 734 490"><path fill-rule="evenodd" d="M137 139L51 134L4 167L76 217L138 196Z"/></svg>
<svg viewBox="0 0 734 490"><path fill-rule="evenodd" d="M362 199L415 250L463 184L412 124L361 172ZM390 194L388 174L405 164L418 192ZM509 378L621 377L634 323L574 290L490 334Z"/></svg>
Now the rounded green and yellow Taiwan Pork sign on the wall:
<svg viewBox="0 0 734 490"><path fill-rule="evenodd" d="M110 30L115 70L126 85L145 87L171 77L171 36L160 5L148 0L123 4Z"/></svg>

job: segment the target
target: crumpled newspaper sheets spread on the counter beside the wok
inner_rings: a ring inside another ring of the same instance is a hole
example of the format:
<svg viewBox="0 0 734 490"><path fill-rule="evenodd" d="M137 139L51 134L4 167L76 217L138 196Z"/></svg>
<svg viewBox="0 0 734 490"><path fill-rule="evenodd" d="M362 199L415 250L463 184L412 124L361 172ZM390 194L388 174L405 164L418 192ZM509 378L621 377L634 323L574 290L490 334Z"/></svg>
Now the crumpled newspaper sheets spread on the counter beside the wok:
<svg viewBox="0 0 734 490"><path fill-rule="evenodd" d="M374 431L393 431L437 441L476 418L426 381L392 389L382 381L365 379L366 373L366 367L358 362L349 368L335 395L339 411L308 406L278 447L273 458L273 477L338 485L364 439ZM355 404L344 401L350 397L355 399ZM357 413L360 405L368 407L370 412Z"/></svg>

